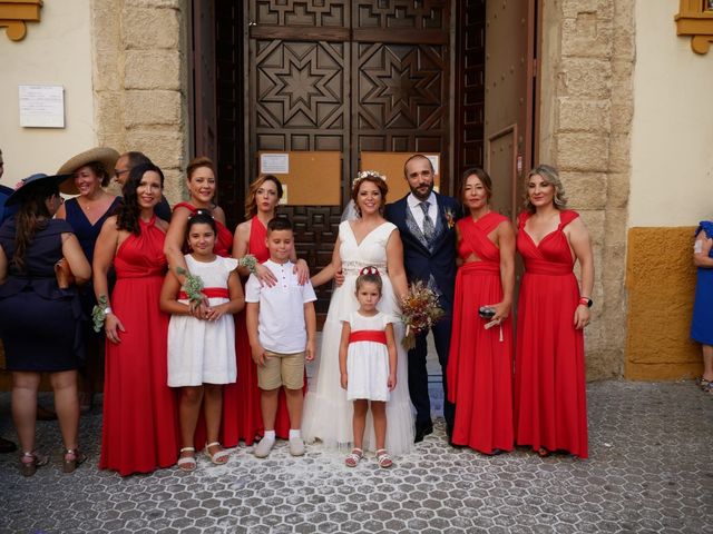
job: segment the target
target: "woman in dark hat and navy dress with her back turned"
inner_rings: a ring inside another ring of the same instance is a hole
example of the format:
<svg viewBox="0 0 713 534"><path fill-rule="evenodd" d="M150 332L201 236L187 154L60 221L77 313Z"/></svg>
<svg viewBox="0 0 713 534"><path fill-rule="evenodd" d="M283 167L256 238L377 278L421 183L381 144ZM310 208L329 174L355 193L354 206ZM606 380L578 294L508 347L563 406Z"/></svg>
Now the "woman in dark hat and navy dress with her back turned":
<svg viewBox="0 0 713 534"><path fill-rule="evenodd" d="M48 372L62 434L64 469L71 473L85 456L77 432L77 368L82 355L81 308L76 287L60 289L55 264L65 257L77 284L91 267L65 220L52 220L62 202L59 182L67 176L32 175L6 205L18 214L0 227L0 337L12 372L12 418L20 438L20 469L31 476L47 456L35 451L37 389Z"/></svg>

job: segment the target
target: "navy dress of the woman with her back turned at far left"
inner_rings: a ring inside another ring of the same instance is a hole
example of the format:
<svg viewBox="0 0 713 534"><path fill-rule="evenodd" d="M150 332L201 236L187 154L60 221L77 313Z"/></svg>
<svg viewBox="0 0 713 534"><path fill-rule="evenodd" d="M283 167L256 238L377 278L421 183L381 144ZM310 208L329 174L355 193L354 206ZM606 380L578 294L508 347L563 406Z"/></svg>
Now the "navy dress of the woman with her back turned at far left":
<svg viewBox="0 0 713 534"><path fill-rule="evenodd" d="M12 264L14 218L0 227L8 278L0 285L0 337L8 370L59 372L81 366L81 307L75 287L59 289L55 264L62 257L66 220L48 220L25 255L27 273Z"/></svg>

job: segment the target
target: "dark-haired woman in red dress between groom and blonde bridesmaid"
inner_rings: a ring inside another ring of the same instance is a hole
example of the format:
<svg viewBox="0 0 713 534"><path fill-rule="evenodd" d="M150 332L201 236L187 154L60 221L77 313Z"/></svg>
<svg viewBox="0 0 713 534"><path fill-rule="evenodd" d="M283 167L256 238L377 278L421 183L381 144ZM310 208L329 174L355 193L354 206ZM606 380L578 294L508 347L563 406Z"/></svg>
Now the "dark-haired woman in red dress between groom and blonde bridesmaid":
<svg viewBox="0 0 713 534"><path fill-rule="evenodd" d="M470 215L456 227L461 265L447 368L448 397L456 404L451 443L490 455L512 451L515 441L509 317L515 233L507 217L490 209L492 182L485 170L466 171L460 187ZM491 308L494 315L479 316L481 307Z"/></svg>

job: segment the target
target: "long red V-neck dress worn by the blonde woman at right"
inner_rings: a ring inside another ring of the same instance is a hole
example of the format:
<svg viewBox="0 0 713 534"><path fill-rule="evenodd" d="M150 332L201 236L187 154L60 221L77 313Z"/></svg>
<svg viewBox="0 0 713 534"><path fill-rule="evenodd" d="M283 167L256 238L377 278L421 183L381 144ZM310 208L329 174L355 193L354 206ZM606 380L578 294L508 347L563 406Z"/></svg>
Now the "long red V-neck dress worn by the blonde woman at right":
<svg viewBox="0 0 713 534"><path fill-rule="evenodd" d="M518 445L588 456L584 334L574 327L579 286L563 228L579 217L559 214L556 230L535 244L518 217L525 261L517 317L515 435Z"/></svg>

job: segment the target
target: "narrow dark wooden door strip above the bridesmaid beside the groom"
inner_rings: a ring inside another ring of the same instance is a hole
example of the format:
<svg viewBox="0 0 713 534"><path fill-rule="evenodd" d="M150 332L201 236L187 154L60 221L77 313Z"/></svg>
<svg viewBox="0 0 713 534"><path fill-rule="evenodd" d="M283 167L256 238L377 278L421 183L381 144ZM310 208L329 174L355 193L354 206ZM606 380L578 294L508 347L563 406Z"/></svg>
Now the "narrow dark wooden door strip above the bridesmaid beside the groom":
<svg viewBox="0 0 713 534"><path fill-rule="evenodd" d="M456 181L471 167L484 167L486 0L457 6L456 120L453 152ZM458 185L456 184L456 187Z"/></svg>

